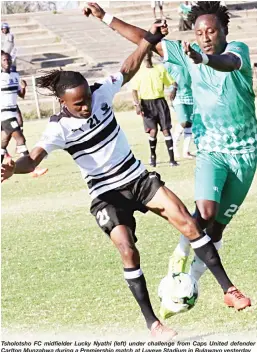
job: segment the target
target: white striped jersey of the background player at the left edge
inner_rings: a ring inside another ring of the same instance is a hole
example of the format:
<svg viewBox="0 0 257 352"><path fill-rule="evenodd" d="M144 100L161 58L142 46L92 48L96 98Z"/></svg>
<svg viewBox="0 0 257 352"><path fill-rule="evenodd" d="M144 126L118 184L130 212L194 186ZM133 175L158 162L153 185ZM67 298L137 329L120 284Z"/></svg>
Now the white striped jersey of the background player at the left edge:
<svg viewBox="0 0 257 352"><path fill-rule="evenodd" d="M17 99L20 87L17 72L1 72L1 121L17 117Z"/></svg>

